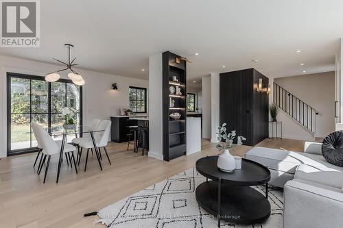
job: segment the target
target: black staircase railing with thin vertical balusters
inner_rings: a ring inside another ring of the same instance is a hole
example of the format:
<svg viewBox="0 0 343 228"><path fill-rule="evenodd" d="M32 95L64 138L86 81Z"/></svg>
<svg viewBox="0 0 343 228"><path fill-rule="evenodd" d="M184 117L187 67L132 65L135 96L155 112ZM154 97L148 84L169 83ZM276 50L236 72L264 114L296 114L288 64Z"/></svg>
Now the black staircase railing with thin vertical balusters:
<svg viewBox="0 0 343 228"><path fill-rule="evenodd" d="M275 82L273 93L273 103L315 136L318 112Z"/></svg>

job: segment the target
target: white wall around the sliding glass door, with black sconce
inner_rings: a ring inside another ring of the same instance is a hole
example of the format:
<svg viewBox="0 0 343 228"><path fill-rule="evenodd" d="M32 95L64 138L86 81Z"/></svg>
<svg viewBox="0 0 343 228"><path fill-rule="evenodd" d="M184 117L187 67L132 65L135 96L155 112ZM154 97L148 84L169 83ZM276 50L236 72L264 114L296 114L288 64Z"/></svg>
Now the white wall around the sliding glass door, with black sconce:
<svg viewBox="0 0 343 228"><path fill-rule="evenodd" d="M6 72L23 73L29 75L43 76L51 71L56 71L62 66L55 64L45 64L19 58L9 58L0 55L0 112L1 129L0 132L0 157L7 155L7 107L6 107ZM76 68L75 68L76 69ZM148 88L148 81L85 71L78 69L86 81L83 87L83 119L84 124L90 123L93 118L108 119L111 106L128 106L128 87L139 86ZM67 78L67 72L60 73L61 77ZM118 90L112 90L112 84L117 83Z"/></svg>

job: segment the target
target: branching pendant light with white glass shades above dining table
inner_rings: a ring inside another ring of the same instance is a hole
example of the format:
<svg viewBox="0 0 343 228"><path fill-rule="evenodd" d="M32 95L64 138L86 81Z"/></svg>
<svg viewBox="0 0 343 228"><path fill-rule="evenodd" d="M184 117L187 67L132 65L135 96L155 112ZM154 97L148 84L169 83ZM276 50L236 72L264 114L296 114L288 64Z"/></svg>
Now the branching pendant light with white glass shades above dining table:
<svg viewBox="0 0 343 228"><path fill-rule="evenodd" d="M74 47L74 45L65 44L64 46L68 48L68 63L62 62L60 60L56 60L55 58L53 58L53 60L56 60L57 62L64 64L66 68L63 68L62 70L55 71L52 73L48 73L47 76L45 76L45 81L49 81L49 82L57 81L58 79L60 79L60 75L58 74L58 72L70 70L71 73L68 74L69 79L71 79L71 81L73 81L75 85L83 86L85 84L83 77L71 68L72 66L78 65L78 64L73 64L76 58L70 61L70 49L71 47Z"/></svg>

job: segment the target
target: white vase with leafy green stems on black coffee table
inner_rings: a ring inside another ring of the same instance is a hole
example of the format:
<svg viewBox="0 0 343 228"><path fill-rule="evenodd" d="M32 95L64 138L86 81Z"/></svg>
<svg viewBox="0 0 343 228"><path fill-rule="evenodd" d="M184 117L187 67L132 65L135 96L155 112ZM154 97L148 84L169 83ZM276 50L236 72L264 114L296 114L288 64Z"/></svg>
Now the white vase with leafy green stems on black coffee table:
<svg viewBox="0 0 343 228"><path fill-rule="evenodd" d="M217 166L218 168L220 168L220 170L230 173L235 169L236 164L235 157L230 154L230 151L228 151L228 149L243 144L242 141L246 140L246 138L244 138L243 136L237 136L237 144L233 144L233 140L236 137L236 131L226 133L226 123L223 123L222 127L218 127L218 131L219 133L217 140L219 140L219 142L216 148L219 151L224 149L224 153L219 155ZM224 141L224 143L222 141Z"/></svg>

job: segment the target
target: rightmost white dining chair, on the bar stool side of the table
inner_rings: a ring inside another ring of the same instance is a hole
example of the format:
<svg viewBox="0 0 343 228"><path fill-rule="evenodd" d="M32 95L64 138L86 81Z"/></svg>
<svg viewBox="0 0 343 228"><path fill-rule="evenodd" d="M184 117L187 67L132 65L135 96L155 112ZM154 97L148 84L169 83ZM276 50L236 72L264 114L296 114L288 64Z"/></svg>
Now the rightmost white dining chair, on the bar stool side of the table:
<svg viewBox="0 0 343 228"><path fill-rule="evenodd" d="M110 125L111 125L111 121L108 121L108 120L100 122L99 125L97 126L97 128L95 129L94 138L95 138L95 146L97 147L97 149L99 149L98 159L99 158L102 159L100 148L103 147L104 151L106 153L108 162L111 164L110 157L108 157L108 153L106 150L106 147L108 144L108 137L110 136ZM97 132L97 130L99 130L99 131ZM104 131L101 131L101 130L104 130ZM92 140L82 140L80 142L80 147L87 149L86 163L84 164L84 171L86 171L89 149L94 148L93 141ZM95 149L95 151L96 151L96 149Z"/></svg>

